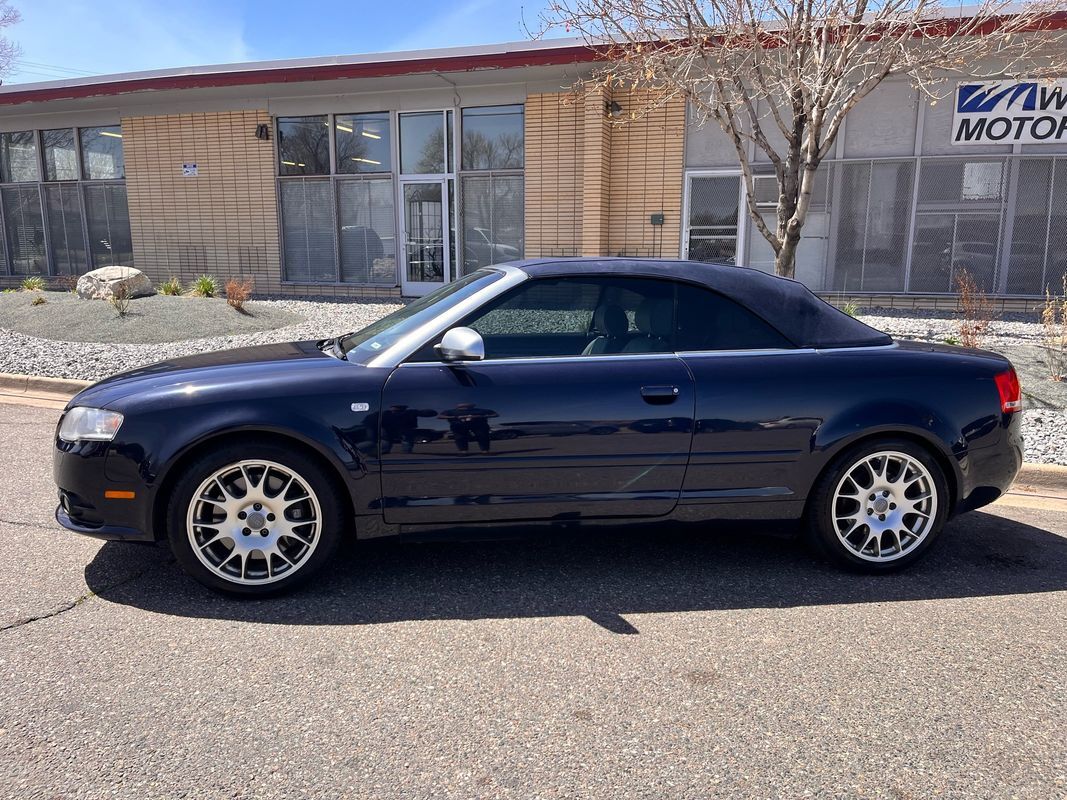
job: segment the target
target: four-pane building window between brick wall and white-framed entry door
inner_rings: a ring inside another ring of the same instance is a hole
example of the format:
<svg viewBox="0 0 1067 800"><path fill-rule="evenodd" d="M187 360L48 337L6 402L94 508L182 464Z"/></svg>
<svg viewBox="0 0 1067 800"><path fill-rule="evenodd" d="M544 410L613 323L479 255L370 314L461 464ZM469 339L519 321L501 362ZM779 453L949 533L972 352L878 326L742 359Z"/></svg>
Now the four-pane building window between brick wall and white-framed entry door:
<svg viewBox="0 0 1067 800"><path fill-rule="evenodd" d="M277 142L285 279L396 286L388 112L281 117Z"/></svg>

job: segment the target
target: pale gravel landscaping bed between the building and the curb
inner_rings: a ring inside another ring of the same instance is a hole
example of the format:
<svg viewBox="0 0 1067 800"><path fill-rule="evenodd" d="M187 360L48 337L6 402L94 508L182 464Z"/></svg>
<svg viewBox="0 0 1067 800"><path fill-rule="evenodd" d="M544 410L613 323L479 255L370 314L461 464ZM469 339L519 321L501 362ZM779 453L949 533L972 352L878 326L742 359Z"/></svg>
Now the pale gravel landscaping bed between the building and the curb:
<svg viewBox="0 0 1067 800"><path fill-rule="evenodd" d="M28 292L0 295L0 372L99 380L179 355L336 336L400 307L399 303L280 298L249 302L251 316L244 317L226 307L224 300L157 295L133 301L131 308L141 316L120 320L101 301L79 301L57 292L45 298L45 305L30 306ZM34 318L46 308L53 316ZM955 318L947 313L872 309L861 319L897 338L943 341L956 334ZM93 336L108 340L94 341ZM1005 354L1020 373L1028 406L1026 461L1067 464L1067 383L1049 380L1040 340L1035 315L1005 314L990 325L983 346Z"/></svg>

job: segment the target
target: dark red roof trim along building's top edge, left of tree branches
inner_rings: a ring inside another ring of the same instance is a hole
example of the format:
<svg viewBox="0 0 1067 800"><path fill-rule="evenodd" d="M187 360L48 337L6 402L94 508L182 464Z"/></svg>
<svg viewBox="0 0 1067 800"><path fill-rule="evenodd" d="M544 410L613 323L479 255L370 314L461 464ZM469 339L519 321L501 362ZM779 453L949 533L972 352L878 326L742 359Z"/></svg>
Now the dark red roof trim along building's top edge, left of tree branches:
<svg viewBox="0 0 1067 800"><path fill-rule="evenodd" d="M343 80L348 78L388 78L426 73L467 73L476 69L508 69L524 66L578 64L603 58L598 50L585 45L571 45L546 50L446 55L433 59L371 62L366 64L322 64L317 66L242 69L232 73L204 73L154 78L132 78L74 86L49 86L22 92L0 93L0 106L23 102L70 100L130 92L164 92L180 89L249 86L264 83L303 83L306 81Z"/></svg>

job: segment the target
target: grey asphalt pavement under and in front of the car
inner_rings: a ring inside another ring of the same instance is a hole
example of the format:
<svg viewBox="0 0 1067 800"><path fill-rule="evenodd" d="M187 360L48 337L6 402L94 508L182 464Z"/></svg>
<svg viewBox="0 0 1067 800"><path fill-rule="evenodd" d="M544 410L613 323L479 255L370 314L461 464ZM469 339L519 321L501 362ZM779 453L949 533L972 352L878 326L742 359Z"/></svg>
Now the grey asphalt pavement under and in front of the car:
<svg viewBox="0 0 1067 800"><path fill-rule="evenodd" d="M55 418L0 405L0 797L1067 795L1063 509L889 577L669 527L351 546L236 602L58 529Z"/></svg>

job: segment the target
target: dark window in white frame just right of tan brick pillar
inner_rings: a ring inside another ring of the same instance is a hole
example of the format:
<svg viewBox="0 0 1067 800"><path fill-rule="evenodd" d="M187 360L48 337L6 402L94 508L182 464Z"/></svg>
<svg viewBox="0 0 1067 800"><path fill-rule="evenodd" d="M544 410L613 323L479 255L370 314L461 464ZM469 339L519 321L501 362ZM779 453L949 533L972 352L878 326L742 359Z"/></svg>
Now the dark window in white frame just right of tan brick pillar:
<svg viewBox="0 0 1067 800"><path fill-rule="evenodd" d="M695 261L734 263L740 178L734 175L689 178L686 253Z"/></svg>

